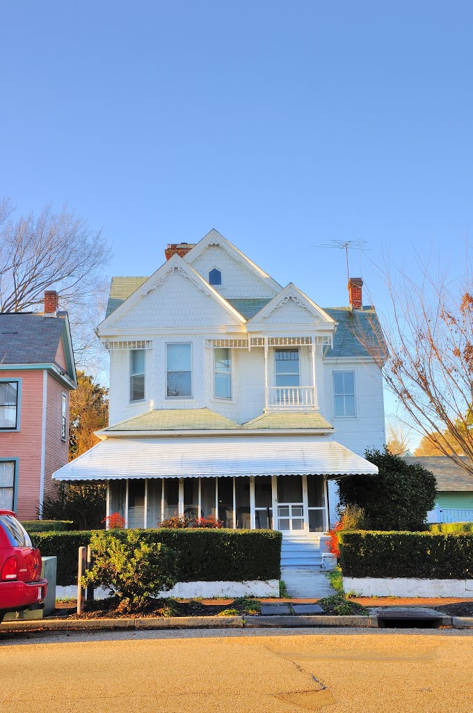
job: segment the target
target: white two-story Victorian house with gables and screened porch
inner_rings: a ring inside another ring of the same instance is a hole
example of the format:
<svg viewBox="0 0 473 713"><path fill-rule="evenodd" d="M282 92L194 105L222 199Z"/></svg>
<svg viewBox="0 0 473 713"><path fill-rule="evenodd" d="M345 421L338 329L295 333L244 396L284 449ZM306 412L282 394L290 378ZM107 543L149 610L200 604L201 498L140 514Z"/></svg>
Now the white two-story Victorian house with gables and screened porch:
<svg viewBox="0 0 473 713"><path fill-rule="evenodd" d="M151 277L112 279L97 330L110 426L53 478L105 481L128 527L185 513L323 533L337 479L377 473L363 452L385 443L363 283L350 279L347 307L319 307L215 230L165 255Z"/></svg>

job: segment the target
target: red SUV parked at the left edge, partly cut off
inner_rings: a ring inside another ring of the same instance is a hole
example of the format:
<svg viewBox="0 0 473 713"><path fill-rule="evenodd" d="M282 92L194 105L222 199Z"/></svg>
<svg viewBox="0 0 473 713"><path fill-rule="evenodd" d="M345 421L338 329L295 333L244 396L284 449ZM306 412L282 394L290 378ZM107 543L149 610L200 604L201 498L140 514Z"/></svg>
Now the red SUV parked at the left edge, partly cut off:
<svg viewBox="0 0 473 713"><path fill-rule="evenodd" d="M0 510L0 622L6 612L38 608L47 588L40 551L15 513Z"/></svg>

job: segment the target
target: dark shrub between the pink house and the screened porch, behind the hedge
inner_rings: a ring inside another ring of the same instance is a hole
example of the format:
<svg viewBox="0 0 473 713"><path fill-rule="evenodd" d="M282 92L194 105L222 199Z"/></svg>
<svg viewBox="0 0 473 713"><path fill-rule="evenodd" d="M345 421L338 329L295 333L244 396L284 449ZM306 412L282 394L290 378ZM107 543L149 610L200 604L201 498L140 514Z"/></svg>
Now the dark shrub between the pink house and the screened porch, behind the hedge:
<svg viewBox="0 0 473 713"><path fill-rule="evenodd" d="M44 498L41 513L51 520L72 520L76 530L102 530L107 488L101 483L59 483L55 497Z"/></svg>

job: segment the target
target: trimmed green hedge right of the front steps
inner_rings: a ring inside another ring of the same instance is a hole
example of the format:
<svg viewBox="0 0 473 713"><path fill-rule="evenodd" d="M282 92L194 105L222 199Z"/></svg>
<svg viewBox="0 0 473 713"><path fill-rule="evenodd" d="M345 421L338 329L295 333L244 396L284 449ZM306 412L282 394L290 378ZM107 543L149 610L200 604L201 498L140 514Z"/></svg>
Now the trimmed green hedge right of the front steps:
<svg viewBox="0 0 473 713"><path fill-rule="evenodd" d="M473 578L473 533L338 533L345 577Z"/></svg>

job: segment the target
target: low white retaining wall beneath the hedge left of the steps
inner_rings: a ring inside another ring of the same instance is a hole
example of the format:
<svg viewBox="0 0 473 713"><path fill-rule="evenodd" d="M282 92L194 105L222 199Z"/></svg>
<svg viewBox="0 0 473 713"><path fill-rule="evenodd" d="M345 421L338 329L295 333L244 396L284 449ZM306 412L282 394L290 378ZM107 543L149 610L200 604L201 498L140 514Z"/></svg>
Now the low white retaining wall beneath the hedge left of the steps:
<svg viewBox="0 0 473 713"><path fill-rule="evenodd" d="M77 596L76 585L56 586L56 599ZM98 587L95 599L106 599L108 590ZM245 582L178 582L172 589L162 592L163 597L182 599L192 597L279 597L279 580L246 580Z"/></svg>

